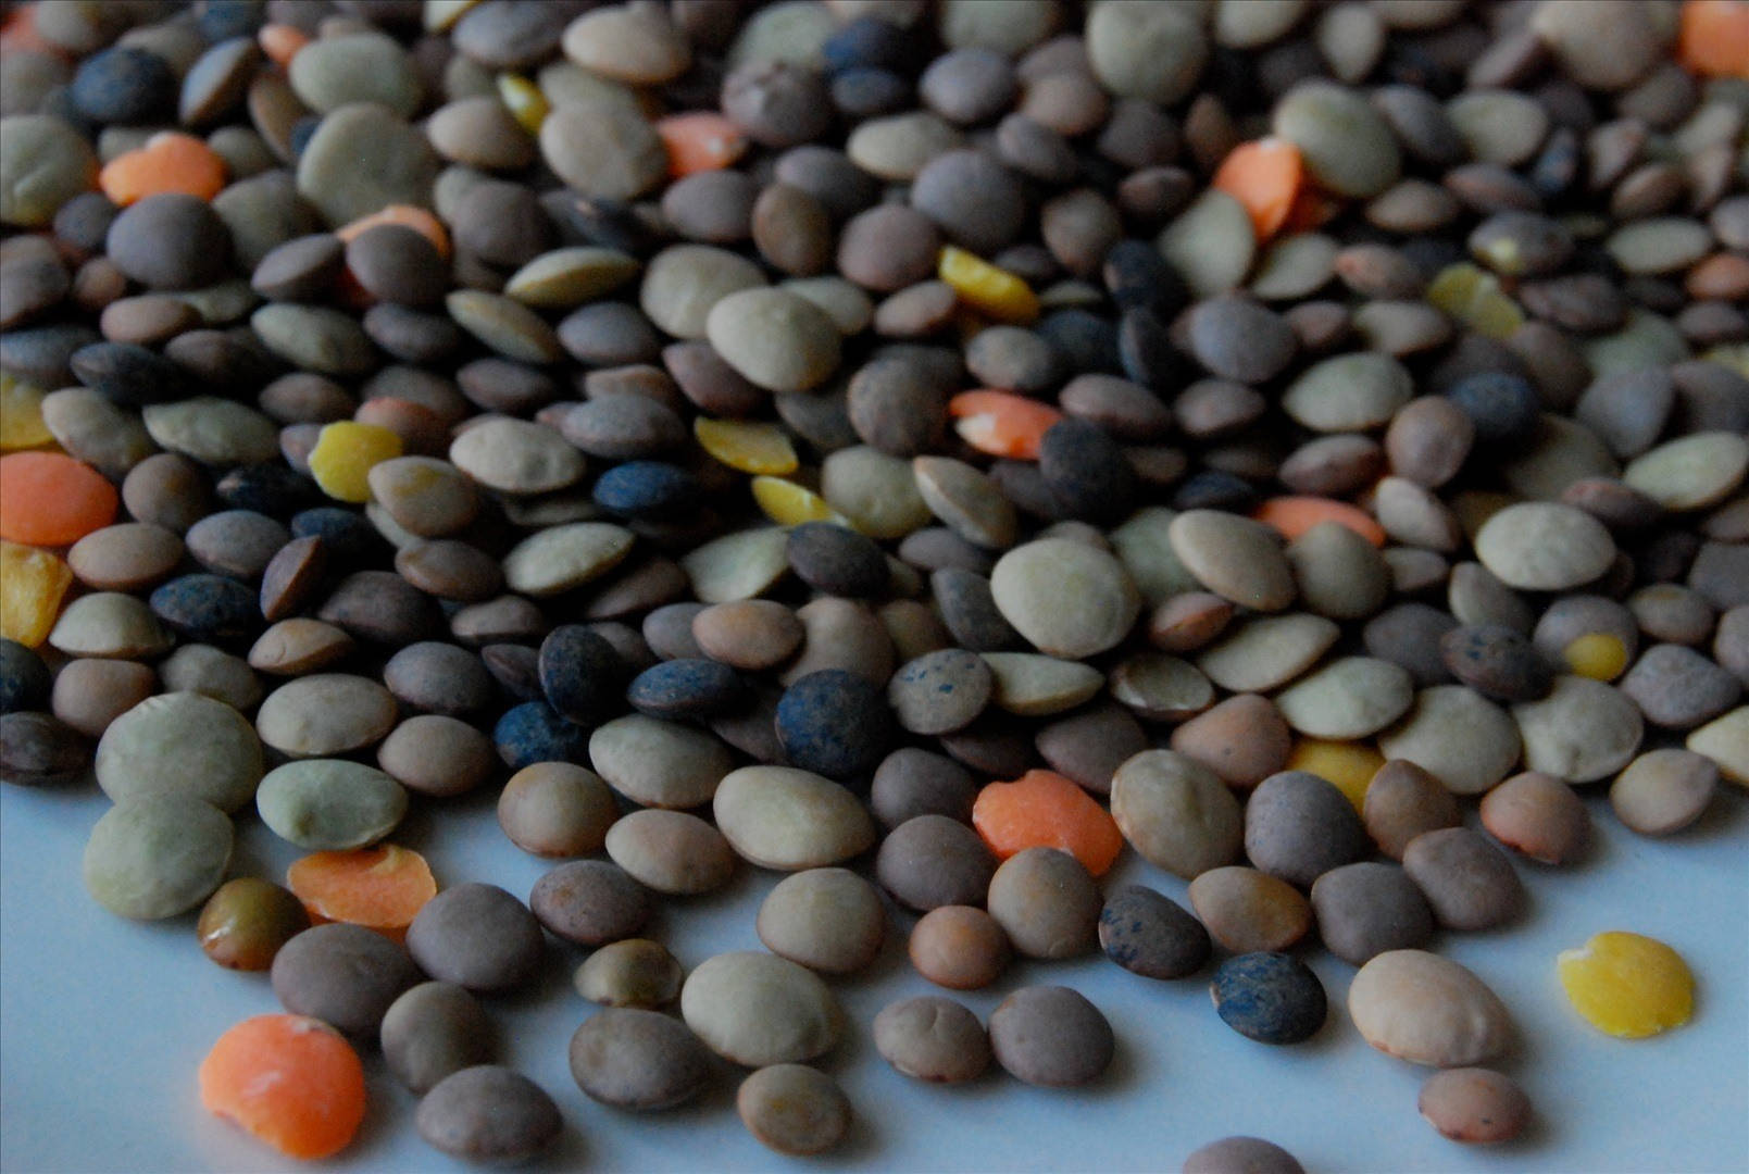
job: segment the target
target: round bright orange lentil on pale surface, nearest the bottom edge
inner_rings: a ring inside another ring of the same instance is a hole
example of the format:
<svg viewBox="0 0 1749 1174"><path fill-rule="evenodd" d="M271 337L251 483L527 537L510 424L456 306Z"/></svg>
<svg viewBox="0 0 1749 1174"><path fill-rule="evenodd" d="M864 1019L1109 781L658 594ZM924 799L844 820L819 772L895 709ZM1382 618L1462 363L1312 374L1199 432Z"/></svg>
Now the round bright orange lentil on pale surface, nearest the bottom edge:
<svg viewBox="0 0 1749 1174"><path fill-rule="evenodd" d="M257 1015L201 1060L201 1104L292 1158L339 1153L364 1120L364 1064L308 1015Z"/></svg>

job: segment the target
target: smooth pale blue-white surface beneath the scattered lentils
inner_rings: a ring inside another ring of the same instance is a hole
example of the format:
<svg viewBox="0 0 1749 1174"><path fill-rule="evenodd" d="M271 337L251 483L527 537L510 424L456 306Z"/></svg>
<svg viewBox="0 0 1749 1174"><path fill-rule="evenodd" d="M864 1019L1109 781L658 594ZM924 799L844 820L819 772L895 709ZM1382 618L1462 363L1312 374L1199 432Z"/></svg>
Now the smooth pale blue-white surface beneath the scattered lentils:
<svg viewBox="0 0 1749 1174"><path fill-rule="evenodd" d="M892 917L871 975L836 982L852 1036L824 1060L855 1106L848 1143L815 1162L759 1146L735 1116L736 1074L703 1102L656 1115L609 1109L570 1080L572 1031L595 1010L570 987L582 950L553 945L535 989L486 1003L500 1059L558 1101L567 1129L533 1171L1177 1171L1196 1146L1256 1134L1308 1171L1749 1171L1749 794L1725 787L1700 824L1665 840L1625 831L1586 789L1592 856L1551 870L1518 861L1530 912L1511 929L1441 934L1434 948L1481 975L1523 1043L1502 1067L1536 1106L1532 1132L1504 1148L1459 1146L1415 1111L1429 1069L1373 1052L1345 1008L1354 968L1307 957L1331 1015L1308 1043L1272 1048L1230 1031L1207 971L1151 982L1104 957L1025 962L962 997L988 1017L1027 983L1074 985L1111 1018L1118 1060L1095 1087L1028 1088L1000 1071L923 1085L874 1053L887 1003L939 992L904 959L913 919ZM416 805L395 836L425 852L439 884L490 880L526 898L549 866L498 831L491 796ZM56 791L0 786L0 1169L3 1171L462 1171L413 1129L411 1094L366 1055L371 1109L338 1158L297 1164L205 1113L194 1073L231 1024L278 1004L264 975L213 966L194 915L135 924L86 896L79 857L107 800L89 777ZM1471 812L1473 817L1473 812ZM233 875L283 878L297 852L241 821ZM742 866L714 898L665 903L647 931L687 968L761 948L754 913L778 875ZM1126 854L1107 889L1142 880L1186 903L1184 882ZM1698 980L1695 1018L1653 1039L1602 1036L1567 1006L1555 955L1602 929L1660 938Z"/></svg>

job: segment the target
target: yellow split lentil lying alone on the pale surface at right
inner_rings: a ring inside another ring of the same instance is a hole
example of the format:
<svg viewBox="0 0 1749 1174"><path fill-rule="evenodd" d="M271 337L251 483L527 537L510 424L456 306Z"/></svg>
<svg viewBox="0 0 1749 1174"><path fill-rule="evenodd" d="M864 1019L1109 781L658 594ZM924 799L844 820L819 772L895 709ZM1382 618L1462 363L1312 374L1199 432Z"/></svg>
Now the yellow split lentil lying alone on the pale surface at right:
<svg viewBox="0 0 1749 1174"><path fill-rule="evenodd" d="M1621 1039L1681 1027L1695 1010L1688 962L1653 938L1620 929L1595 934L1555 961L1572 1010L1600 1032Z"/></svg>

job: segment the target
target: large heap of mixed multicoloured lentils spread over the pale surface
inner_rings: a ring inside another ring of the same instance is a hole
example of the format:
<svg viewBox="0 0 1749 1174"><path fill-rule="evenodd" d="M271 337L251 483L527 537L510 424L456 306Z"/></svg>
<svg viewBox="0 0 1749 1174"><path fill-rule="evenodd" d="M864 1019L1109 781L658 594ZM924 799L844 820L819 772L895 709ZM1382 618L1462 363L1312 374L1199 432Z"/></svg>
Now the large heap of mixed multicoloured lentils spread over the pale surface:
<svg viewBox="0 0 1749 1174"><path fill-rule="evenodd" d="M894 927L946 990L1216 962L1268 1045L1315 938L1432 1125L1511 1137L1436 933L1583 857L1583 789L1665 835L1749 784L1740 9L5 3L3 777L94 763L91 896L205 905L462 1157L561 1132L486 1043L551 950L584 1094L728 1060L785 1153L855 1031L1107 1069L1060 985L847 1022ZM526 901L233 877L257 815L416 877L476 789L563 861ZM770 952L638 936L749 866Z"/></svg>

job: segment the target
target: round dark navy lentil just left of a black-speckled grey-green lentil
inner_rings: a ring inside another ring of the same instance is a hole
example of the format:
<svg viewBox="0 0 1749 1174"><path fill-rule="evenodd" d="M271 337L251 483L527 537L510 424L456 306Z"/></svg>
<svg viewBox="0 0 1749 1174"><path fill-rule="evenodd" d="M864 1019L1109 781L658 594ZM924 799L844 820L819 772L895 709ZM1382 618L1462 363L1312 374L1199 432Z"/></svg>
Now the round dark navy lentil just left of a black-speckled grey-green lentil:
<svg viewBox="0 0 1749 1174"><path fill-rule="evenodd" d="M822 668L784 691L777 737L794 766L855 779L873 772L892 749L894 719L878 684L843 668Z"/></svg>

